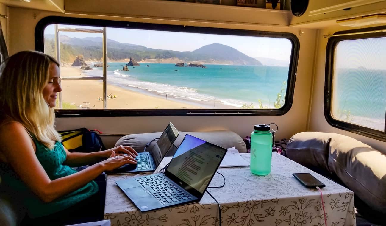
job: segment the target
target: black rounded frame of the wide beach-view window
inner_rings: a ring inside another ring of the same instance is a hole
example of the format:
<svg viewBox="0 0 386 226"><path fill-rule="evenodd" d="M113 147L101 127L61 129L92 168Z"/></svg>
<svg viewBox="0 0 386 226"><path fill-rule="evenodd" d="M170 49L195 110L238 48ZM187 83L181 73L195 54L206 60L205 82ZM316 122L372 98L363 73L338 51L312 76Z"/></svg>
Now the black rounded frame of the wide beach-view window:
<svg viewBox="0 0 386 226"><path fill-rule="evenodd" d="M81 22L80 22L81 21ZM88 19L76 17L48 16L41 19L35 27L35 49L44 52L44 29L50 24L115 27L145 29L156 31L192 32L239 36L286 38L292 44L288 80L284 105L279 109L58 109L57 117L119 117L119 116L281 116L292 107L295 90L296 70L300 42L295 34L288 32L252 31L213 27L194 27L183 25L152 24L116 20ZM108 51L108 46L107 46Z"/></svg>

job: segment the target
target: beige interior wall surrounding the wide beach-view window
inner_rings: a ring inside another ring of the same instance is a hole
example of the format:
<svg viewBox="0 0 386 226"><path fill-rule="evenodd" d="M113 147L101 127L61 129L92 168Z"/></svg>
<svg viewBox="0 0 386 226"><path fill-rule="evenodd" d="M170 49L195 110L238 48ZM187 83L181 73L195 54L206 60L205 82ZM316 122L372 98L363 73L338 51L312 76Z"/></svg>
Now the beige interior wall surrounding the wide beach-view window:
<svg viewBox="0 0 386 226"><path fill-rule="evenodd" d="M150 9L151 10L151 9ZM161 9L154 9L161 10ZM10 54L17 53L26 49L35 49L34 32L37 22L49 15L87 17L95 19L110 19L132 22L153 22L166 24L179 24L178 19L159 20L157 18L140 17L109 17L95 15L71 15L42 10L31 10L25 8L10 7ZM257 13L258 11L256 11ZM199 11L196 12L200 14ZM170 15L173 17L173 15ZM246 18L247 19L247 18ZM81 21L81 19L80 19ZM275 122L279 126L277 139L291 138L293 134L305 131L306 119L308 115L308 105L310 101L311 78L314 62L315 50L315 29L261 26L248 24L246 20L243 24L226 24L216 22L184 21L186 25L203 27L221 27L231 29L249 29L262 31L291 32L298 36L300 41L300 54L298 70L296 74L295 94L292 108L284 116L183 116L183 117L69 117L58 118L57 129L66 130L78 127L90 129L100 129L103 133L111 134L134 134L163 131L168 122L173 122L179 131L210 131L210 130L231 130L239 134L242 138L251 134L254 124ZM232 86L229 87L232 89ZM105 136L106 146L111 146L119 137Z"/></svg>

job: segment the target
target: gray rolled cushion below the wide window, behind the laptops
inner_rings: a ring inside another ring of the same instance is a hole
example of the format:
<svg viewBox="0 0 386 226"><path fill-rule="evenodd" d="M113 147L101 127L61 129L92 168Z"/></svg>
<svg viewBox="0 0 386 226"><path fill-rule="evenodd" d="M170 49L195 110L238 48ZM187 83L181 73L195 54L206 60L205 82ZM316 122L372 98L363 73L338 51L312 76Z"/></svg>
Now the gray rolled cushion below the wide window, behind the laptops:
<svg viewBox="0 0 386 226"><path fill-rule="evenodd" d="M240 153L247 152L243 139L232 131L179 132L179 136L176 141L174 141L174 145L178 147L187 133L223 148L235 147ZM130 134L120 138L115 146L131 146L135 151L143 152L145 145L152 139L159 138L161 134L162 132Z"/></svg>

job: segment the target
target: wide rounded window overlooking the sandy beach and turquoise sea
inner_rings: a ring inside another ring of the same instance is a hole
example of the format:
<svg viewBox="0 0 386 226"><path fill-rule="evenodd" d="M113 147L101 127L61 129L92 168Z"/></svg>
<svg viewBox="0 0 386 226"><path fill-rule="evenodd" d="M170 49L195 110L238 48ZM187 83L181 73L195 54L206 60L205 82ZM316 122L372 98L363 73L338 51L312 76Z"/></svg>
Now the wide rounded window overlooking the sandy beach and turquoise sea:
<svg viewBox="0 0 386 226"><path fill-rule="evenodd" d="M36 33L42 32L44 52L55 58L56 39L60 42L63 91L56 108L72 111L59 110L59 115L86 109L108 109L109 116L134 109L162 115L277 115L291 107L298 42L290 34L52 20L42 31L38 25Z"/></svg>

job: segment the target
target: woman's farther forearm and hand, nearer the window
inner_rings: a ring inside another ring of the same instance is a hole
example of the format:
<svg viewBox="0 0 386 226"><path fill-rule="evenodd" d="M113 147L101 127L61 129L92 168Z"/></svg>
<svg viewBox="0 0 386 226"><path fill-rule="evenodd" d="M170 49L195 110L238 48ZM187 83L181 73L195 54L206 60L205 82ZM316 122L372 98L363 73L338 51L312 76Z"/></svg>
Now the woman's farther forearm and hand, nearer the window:
<svg viewBox="0 0 386 226"><path fill-rule="evenodd" d="M117 146L115 148L110 148L105 151L96 151L91 153L80 153L80 152L69 152L66 148L66 161L64 161L64 165L68 165L70 167L80 167L88 164L93 164L105 160L110 157L112 151L115 152L116 155L131 155L133 158L137 156L137 152L134 151L133 148L128 146Z"/></svg>

